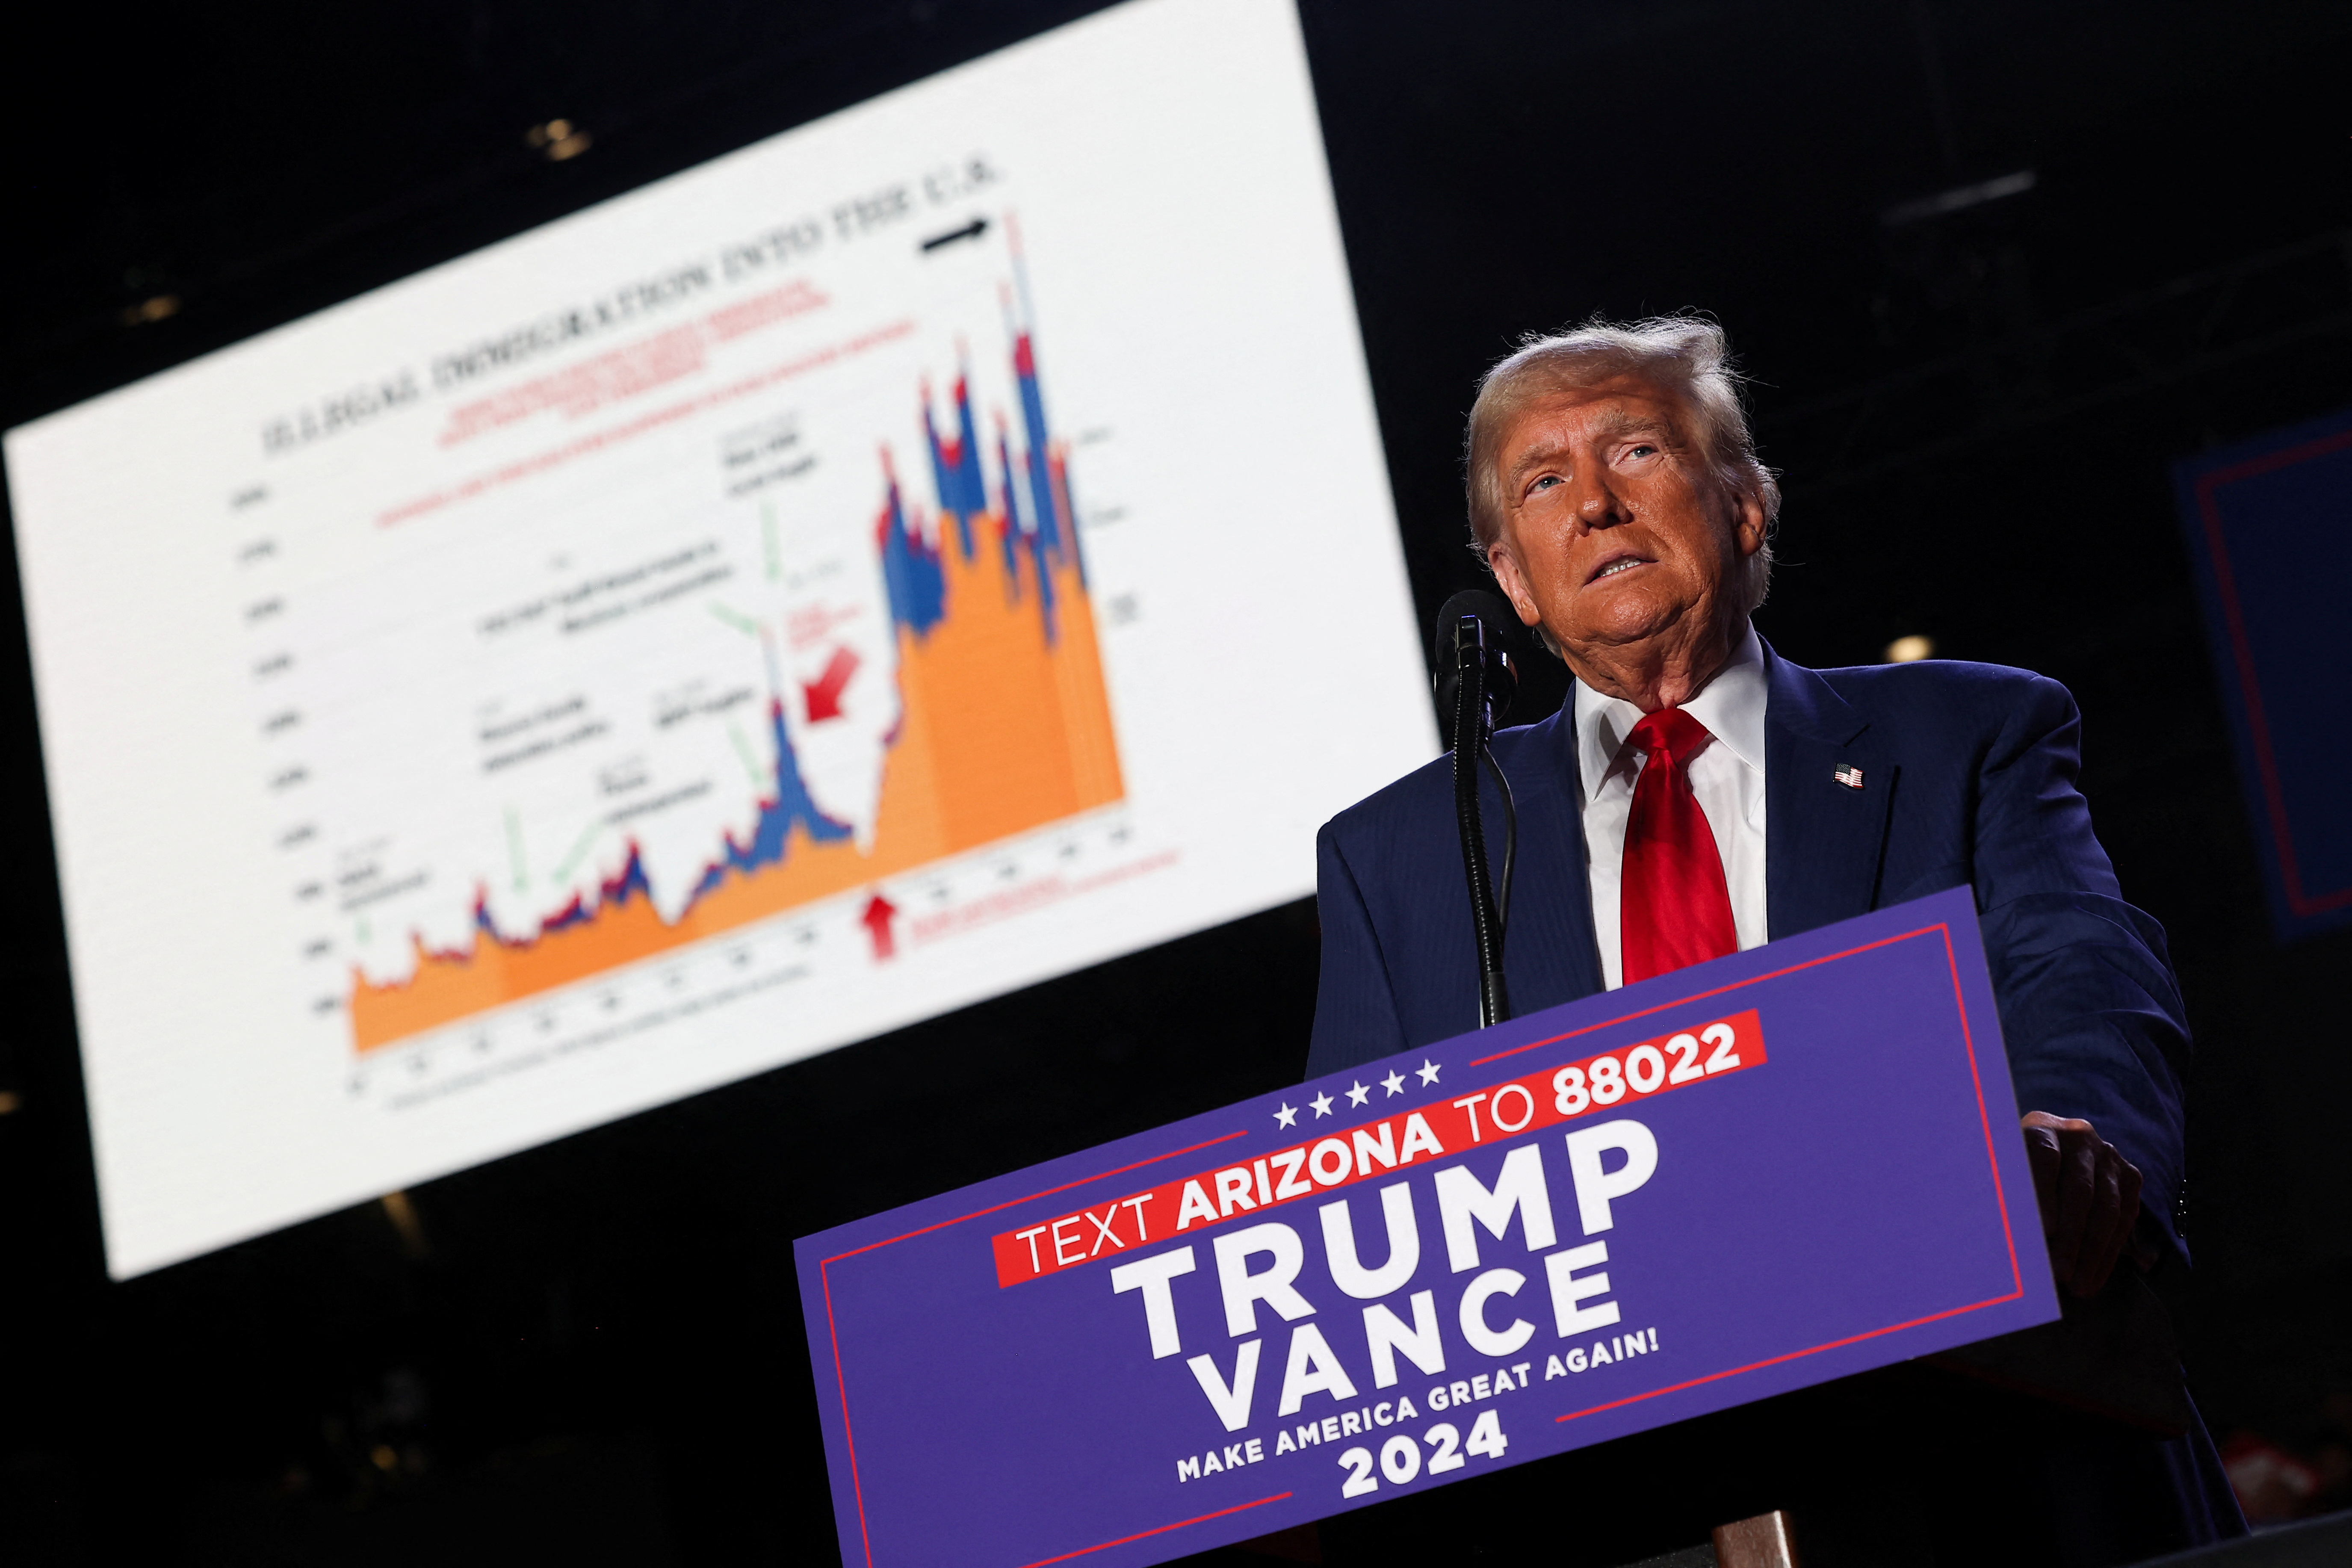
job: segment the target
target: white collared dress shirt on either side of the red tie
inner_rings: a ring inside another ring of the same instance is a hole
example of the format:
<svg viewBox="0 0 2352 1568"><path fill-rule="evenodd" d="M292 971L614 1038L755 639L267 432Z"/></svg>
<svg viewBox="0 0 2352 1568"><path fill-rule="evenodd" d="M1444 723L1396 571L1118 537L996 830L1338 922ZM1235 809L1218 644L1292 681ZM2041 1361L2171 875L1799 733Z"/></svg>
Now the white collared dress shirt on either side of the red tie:
<svg viewBox="0 0 2352 1568"><path fill-rule="evenodd" d="M1691 795L1708 813L1715 849L1724 858L1731 889L1731 926L1740 952L1771 940L1764 929L1764 644L1755 628L1731 663L1682 705L1715 738L1689 764ZM1602 950L1602 983L1625 983L1625 945L1618 926L1618 889L1625 865L1625 818L1632 783L1649 752L1625 745L1642 710L1576 682L1576 802L1585 816L1585 872L1592 884L1592 936Z"/></svg>

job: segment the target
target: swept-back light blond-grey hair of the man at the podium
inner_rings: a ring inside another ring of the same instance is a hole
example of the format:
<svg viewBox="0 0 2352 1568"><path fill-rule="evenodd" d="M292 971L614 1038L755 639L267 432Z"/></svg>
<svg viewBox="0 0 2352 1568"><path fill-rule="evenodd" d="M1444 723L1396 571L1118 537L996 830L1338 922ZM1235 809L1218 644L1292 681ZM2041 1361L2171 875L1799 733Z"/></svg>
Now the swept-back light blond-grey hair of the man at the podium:
<svg viewBox="0 0 2352 1568"><path fill-rule="evenodd" d="M1724 329L1703 315L1653 315L1639 322L1592 317L1573 331L1529 334L1519 348L1479 381L1470 404L1470 428L1463 435L1463 482L1470 501L1470 538L1479 559L1503 536L1503 433L1526 404L1552 393L1571 393L1639 376L1675 395L1691 411L1691 437L1700 458L1733 496L1764 508L1764 545L1748 557L1740 574L1743 614L1755 614L1771 590L1771 529L1780 520L1780 482L1757 461L1748 409L1740 402L1743 376L1731 364Z"/></svg>

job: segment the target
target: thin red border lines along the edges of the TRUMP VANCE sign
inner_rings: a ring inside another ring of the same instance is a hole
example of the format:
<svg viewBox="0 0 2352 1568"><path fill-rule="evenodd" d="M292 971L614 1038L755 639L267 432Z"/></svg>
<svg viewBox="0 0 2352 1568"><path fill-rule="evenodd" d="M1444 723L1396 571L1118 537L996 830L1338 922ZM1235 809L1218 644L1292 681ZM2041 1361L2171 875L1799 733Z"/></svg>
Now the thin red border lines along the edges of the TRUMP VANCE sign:
<svg viewBox="0 0 2352 1568"><path fill-rule="evenodd" d="M1992 1145L1992 1112L1985 1107L1985 1079L1983 1079L1983 1074L1976 1067L1976 1030L1969 1025L1969 999L1962 994L1962 987L1959 987L1959 954L1952 950L1952 926L1947 922L1936 922L1933 926L1919 926L1917 931L1905 931L1900 936L1882 936L1875 943L1863 943L1858 947L1846 947L1842 952L1830 952L1830 954L1823 954L1818 959L1806 959L1804 964L1790 964L1788 969L1773 969L1771 973L1752 976L1748 980L1733 980L1731 985L1717 985L1715 990L1691 992L1691 994L1677 997L1672 1001L1658 1001L1653 1006L1635 1009L1632 1013L1621 1013L1618 1018L1609 1018L1604 1023L1592 1023L1592 1025L1585 1025L1581 1030L1569 1030L1566 1034L1550 1034L1545 1039L1529 1041L1524 1046L1512 1046L1510 1051L1496 1051L1494 1056L1479 1056L1479 1058L1472 1058L1468 1065L1470 1067L1484 1067L1486 1063L1498 1063L1505 1056L1519 1056L1522 1051L1534 1051L1536 1046L1552 1046L1552 1044L1559 1044L1562 1039L1576 1039L1578 1034L1592 1034L1595 1030L1611 1030L1611 1027L1616 1027L1621 1023L1632 1023L1635 1018L1649 1018L1651 1013L1663 1013L1668 1009L1686 1006L1691 1001L1705 1001L1708 997L1722 997L1726 992L1736 992L1740 987L1757 985L1762 980L1778 980L1780 976L1792 976L1792 973L1804 971L1804 969L1818 969L1820 964L1835 964L1837 959L1851 959L1856 954L1872 952L1877 947L1891 947L1896 943L1907 943L1912 938L1931 936L1931 933L1933 936L1943 936L1943 954L1945 954L1945 961L1952 969L1952 1004L1959 1009L1959 1034L1962 1034L1962 1041L1966 1044L1966 1051L1969 1051L1969 1081L1976 1088L1976 1114L1978 1114L1978 1119L1983 1121L1983 1128L1985 1128L1985 1161L1992 1168L1992 1197L1994 1197L1994 1201L2002 1208L2002 1239L2009 1244L2009 1276L2011 1276L2011 1281L2013 1281L2016 1288L2009 1295L1994 1295L1994 1298L1987 1298L1987 1300L1980 1300L1980 1302L1969 1302L1966 1307L1947 1307L1943 1312L1931 1312L1929 1316L1917 1316L1917 1319L1910 1319L1905 1324L1889 1324L1886 1328L1870 1328L1865 1333L1846 1335L1844 1340L1830 1340L1828 1345L1811 1345L1806 1349L1792 1349L1788 1354L1771 1356L1766 1361L1752 1361L1748 1366L1733 1366L1733 1368L1722 1371L1722 1373L1708 1373L1705 1378L1691 1378L1689 1382L1677 1382L1672 1387L1649 1389L1646 1394L1628 1394L1625 1399L1613 1399L1613 1401L1609 1401L1604 1406L1592 1406L1588 1410L1573 1410L1569 1415L1559 1415L1559 1418L1555 1418L1555 1422L1569 1422L1569 1420L1576 1420L1578 1415L1597 1415L1599 1410L1613 1410L1618 1406L1639 1403L1644 1399L1656 1399L1661 1394L1675 1394L1677 1389L1698 1387L1703 1382L1722 1382L1724 1378L1738 1378L1740 1373L1752 1373L1752 1371L1759 1371L1759 1368L1766 1368L1766 1366L1778 1366L1780 1361L1797 1361L1802 1356L1813 1356L1813 1354L1820 1354L1825 1349L1837 1349L1842 1345L1858 1345L1863 1340L1875 1340L1875 1338L1882 1338L1882 1335L1889 1335L1889 1333L1900 1333L1905 1328L1917 1328L1919 1324L1933 1324L1933 1321L1940 1321L1940 1319L1947 1319L1947 1316L1962 1316L1966 1312L1980 1312L1985 1307L1999 1307L2002 1302L2013 1302L2020 1295L2025 1295L2025 1274L2023 1274L2023 1269L2018 1269L2018 1239L2016 1239L2016 1232L2011 1229L2011 1222L2009 1222L2009 1194L2002 1192L2002 1159L1999 1159L1999 1154L1994 1152L1994 1145ZM1181 1150L1169 1150L1167 1154L1152 1154L1150 1159L1138 1159L1138 1161L1127 1164L1127 1166L1115 1166L1110 1171L1098 1171L1094 1175L1082 1175L1082 1178L1077 1178L1073 1182L1063 1182L1058 1187L1044 1187L1044 1190L1030 1192L1025 1197L1004 1199L1002 1204L990 1204L988 1208L974 1208L971 1213L957 1215L953 1220L938 1220L936 1225L924 1225L920 1229L910 1229L906 1234L889 1237L884 1241L868 1241L866 1246L854 1246L847 1253L835 1253L833 1258L818 1260L816 1274L818 1274L818 1284L823 1286L823 1293L826 1293L826 1338L833 1342L833 1387L835 1387L835 1392L840 1392L840 1399L842 1399L842 1441L849 1448L849 1490L851 1490L851 1495L856 1497L856 1505L858 1505L858 1544L866 1549L866 1568L873 1568L875 1549L873 1549L873 1535L866 1528L866 1486L858 1479L858 1443L856 1443L856 1436L851 1434L851 1427L849 1427L849 1375L842 1368L842 1338L840 1338L840 1331L833 1326L833 1274L830 1274L833 1265L835 1262L844 1262L849 1258L856 1258L861 1253L873 1253L877 1248L894 1246L898 1241L910 1241L915 1237L927 1237L934 1229L948 1229L950 1225L962 1225L967 1220L978 1220L978 1218L997 1213L1002 1208L1014 1208L1016 1204L1028 1204L1033 1199L1051 1197L1056 1192L1068 1192L1070 1187L1084 1187L1087 1182L1098 1182L1098 1180L1103 1180L1108 1175L1124 1175L1127 1171L1141 1171L1143 1166L1155 1166L1162 1159L1178 1159L1183 1154L1197 1154L1200 1150L1209 1150L1209 1147L1216 1147L1221 1143L1232 1143L1235 1138L1247 1138L1247 1135L1249 1135L1247 1131L1235 1131L1235 1133L1225 1133L1221 1138L1209 1138L1204 1143L1192 1143L1192 1145L1185 1145ZM1124 1547L1131 1540L1145 1540L1150 1535L1164 1535L1169 1530L1181 1530L1185 1526L1204 1523L1209 1519L1223 1519L1225 1514L1240 1514L1242 1509L1263 1507L1268 1502L1282 1502L1291 1493L1275 1493L1272 1497L1258 1497L1256 1502L1237 1502L1230 1509L1216 1509L1214 1514L1200 1514L1195 1519L1178 1519L1174 1523L1155 1526L1150 1530L1136 1530L1134 1535L1122 1535L1117 1540L1103 1540L1103 1542L1096 1542L1091 1547L1077 1547L1075 1552L1063 1552L1061 1556L1047 1556L1047 1559L1040 1559L1035 1563L1028 1563L1025 1568L1049 1568L1049 1563L1068 1563L1070 1559L1087 1556L1091 1552L1108 1552L1110 1547Z"/></svg>

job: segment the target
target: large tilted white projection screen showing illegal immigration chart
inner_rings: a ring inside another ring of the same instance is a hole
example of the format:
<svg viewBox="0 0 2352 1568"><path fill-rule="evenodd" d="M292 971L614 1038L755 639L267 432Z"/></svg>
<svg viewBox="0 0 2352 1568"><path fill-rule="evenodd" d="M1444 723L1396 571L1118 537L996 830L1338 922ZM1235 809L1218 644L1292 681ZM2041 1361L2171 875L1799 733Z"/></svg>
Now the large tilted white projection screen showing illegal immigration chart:
<svg viewBox="0 0 2352 1568"><path fill-rule="evenodd" d="M1287 0L5 451L118 1276L1298 898L1437 750Z"/></svg>

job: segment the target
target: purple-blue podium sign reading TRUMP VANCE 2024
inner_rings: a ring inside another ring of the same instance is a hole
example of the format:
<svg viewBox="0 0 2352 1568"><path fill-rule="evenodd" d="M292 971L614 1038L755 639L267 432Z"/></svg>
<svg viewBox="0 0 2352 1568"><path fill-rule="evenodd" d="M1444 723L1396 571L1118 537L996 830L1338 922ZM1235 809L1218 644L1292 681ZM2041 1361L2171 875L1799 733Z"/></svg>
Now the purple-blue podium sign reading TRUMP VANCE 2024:
<svg viewBox="0 0 2352 1568"><path fill-rule="evenodd" d="M2044 1324L2034 1213L1952 889L804 1237L842 1559L1157 1563Z"/></svg>

